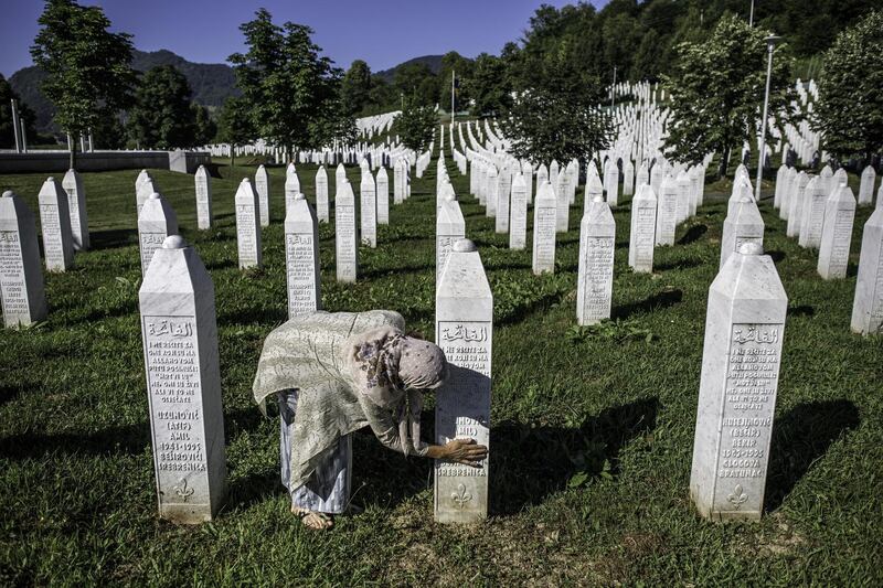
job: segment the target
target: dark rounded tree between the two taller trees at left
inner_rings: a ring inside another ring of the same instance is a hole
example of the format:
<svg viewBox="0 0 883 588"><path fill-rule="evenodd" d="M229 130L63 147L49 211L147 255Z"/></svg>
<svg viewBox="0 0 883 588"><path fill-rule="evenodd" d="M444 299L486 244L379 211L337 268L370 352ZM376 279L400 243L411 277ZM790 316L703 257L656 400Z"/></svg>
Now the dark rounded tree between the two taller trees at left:
<svg viewBox="0 0 883 588"><path fill-rule="evenodd" d="M143 149L192 147L196 140L196 113L191 108L190 84L171 65L148 70L129 111L129 133Z"/></svg>

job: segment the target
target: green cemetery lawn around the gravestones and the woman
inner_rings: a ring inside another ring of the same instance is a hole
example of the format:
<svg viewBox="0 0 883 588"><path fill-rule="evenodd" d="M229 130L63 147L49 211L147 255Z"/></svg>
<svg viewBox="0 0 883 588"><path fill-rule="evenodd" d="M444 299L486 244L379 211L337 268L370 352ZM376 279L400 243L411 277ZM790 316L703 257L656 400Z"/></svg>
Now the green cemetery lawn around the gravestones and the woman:
<svg viewBox="0 0 883 588"><path fill-rule="evenodd" d="M315 202L316 168L298 169ZM359 512L316 533L288 512L278 423L260 416L251 393L264 338L286 320L284 168L272 168L265 268L247 272L236 267L233 195L254 167L222 162L219 171L216 227L203 233L193 177L151 173L214 280L224 511L201 526L158 520L138 319L137 170L84 173L93 250L77 255L74 270L46 275L46 322L0 330L0 584L883 585L883 338L849 330L870 209L857 213L849 277L825 282L815 252L786 238L772 199L760 205L766 249L789 297L767 512L759 523L722 525L699 518L688 485L723 195L706 192L678 244L657 248L652 276L628 269L624 197L615 211L615 320L578 329L583 186L571 231L558 235L555 274L535 277L530 245L509 250L508 235L494 234L450 164L494 295L492 515L475 527L434 524L430 462L362 431ZM358 188L358 168L348 172ZM43 180L0 175L0 189L35 212ZM435 161L411 200L391 203L391 225L379 227L376 249L362 249L355 285L334 281L333 225L320 225L325 308L396 310L433 339L434 206ZM532 209L529 216L530 231Z"/></svg>

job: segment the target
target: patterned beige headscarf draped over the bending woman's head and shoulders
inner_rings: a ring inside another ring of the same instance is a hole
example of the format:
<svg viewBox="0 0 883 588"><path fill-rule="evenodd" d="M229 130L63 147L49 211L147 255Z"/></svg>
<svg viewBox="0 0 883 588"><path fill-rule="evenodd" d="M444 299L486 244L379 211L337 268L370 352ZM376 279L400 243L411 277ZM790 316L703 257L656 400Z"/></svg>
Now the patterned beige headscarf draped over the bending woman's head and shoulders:
<svg viewBox="0 0 883 588"><path fill-rule="evenodd" d="M405 336L387 327L355 335L351 343L348 360L359 392L395 413L405 455L408 438L414 449L419 450L423 410L419 391L437 388L445 382L445 353L428 341Z"/></svg>

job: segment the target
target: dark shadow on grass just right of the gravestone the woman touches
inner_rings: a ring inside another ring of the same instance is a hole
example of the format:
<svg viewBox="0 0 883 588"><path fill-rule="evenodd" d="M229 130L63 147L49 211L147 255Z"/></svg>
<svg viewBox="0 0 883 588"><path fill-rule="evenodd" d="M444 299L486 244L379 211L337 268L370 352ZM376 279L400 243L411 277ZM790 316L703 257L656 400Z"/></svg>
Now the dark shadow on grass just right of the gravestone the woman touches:
<svg viewBox="0 0 883 588"><path fill-rule="evenodd" d="M618 472L619 451L656 428L657 397L604 409L578 428L504 423L490 432L491 510L514 514L586 479ZM606 464L606 466L605 466Z"/></svg>

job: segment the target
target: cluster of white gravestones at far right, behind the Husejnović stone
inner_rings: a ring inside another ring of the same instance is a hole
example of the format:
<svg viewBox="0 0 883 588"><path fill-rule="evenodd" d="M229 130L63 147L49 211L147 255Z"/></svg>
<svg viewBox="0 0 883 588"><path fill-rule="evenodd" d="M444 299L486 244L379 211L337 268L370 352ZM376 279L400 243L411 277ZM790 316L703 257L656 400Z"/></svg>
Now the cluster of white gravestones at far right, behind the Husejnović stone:
<svg viewBox="0 0 883 588"><path fill-rule="evenodd" d="M870 165L862 172L859 206L873 204L875 178ZM783 165L776 175L773 205L788 223L786 234L818 249L817 270L826 280L847 277L857 207L847 181L845 170L828 165L818 175ZM850 327L864 335L883 332L883 185L862 232Z"/></svg>

